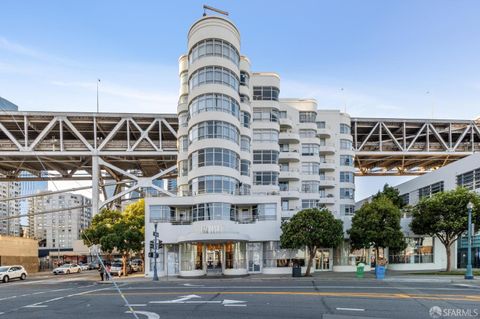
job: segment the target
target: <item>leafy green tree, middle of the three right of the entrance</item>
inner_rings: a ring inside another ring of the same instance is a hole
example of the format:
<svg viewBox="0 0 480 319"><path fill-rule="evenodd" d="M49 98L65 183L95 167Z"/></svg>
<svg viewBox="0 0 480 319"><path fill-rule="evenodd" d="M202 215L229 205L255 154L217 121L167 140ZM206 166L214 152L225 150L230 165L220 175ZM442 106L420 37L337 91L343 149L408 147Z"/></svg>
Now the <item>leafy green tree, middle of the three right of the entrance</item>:
<svg viewBox="0 0 480 319"><path fill-rule="evenodd" d="M400 209L385 195L365 203L355 212L350 235L352 249L375 247L378 261L379 248L400 251L407 246L400 226Z"/></svg>

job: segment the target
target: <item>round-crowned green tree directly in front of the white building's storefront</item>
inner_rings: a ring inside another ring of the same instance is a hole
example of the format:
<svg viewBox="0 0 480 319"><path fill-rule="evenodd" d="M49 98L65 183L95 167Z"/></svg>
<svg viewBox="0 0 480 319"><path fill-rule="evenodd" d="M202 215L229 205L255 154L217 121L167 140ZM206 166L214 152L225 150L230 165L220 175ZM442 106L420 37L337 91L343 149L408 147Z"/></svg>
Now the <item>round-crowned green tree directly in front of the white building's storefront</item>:
<svg viewBox="0 0 480 319"><path fill-rule="evenodd" d="M313 258L320 247L336 247L343 241L343 223L327 209L309 208L296 213L282 223L282 248L307 248L308 264L305 276L310 276Z"/></svg>

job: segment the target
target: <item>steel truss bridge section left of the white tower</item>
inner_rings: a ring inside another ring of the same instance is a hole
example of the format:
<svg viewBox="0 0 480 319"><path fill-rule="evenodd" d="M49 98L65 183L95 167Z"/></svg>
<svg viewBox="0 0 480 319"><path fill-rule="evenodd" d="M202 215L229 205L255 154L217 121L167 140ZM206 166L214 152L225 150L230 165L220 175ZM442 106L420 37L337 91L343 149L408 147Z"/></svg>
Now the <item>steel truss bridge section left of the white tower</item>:
<svg viewBox="0 0 480 319"><path fill-rule="evenodd" d="M92 180L94 211L145 188L172 195L153 182L176 174L177 122L175 114L2 112L0 182Z"/></svg>

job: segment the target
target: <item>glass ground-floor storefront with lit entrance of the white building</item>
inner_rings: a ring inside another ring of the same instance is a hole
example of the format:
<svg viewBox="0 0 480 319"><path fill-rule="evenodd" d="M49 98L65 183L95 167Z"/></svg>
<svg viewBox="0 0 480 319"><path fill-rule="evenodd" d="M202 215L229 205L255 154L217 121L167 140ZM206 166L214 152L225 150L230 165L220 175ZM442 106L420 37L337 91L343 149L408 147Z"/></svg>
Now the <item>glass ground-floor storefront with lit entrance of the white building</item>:
<svg viewBox="0 0 480 319"><path fill-rule="evenodd" d="M333 269L333 249L318 249L313 271ZM153 276L154 259L147 260L147 276ZM242 276L252 273L289 274L292 267L306 270L306 251L281 249L277 241L268 242L186 242L166 244L159 250L159 276Z"/></svg>

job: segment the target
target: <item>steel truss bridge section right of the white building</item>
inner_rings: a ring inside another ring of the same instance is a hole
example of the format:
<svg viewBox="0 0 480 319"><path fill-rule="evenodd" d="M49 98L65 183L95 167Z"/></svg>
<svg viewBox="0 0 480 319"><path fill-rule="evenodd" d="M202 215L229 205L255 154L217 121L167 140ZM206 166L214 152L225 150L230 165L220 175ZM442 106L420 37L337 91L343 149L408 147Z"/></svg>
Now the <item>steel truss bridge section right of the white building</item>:
<svg viewBox="0 0 480 319"><path fill-rule="evenodd" d="M480 151L480 120L352 118L357 175L420 175Z"/></svg>

